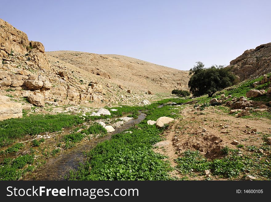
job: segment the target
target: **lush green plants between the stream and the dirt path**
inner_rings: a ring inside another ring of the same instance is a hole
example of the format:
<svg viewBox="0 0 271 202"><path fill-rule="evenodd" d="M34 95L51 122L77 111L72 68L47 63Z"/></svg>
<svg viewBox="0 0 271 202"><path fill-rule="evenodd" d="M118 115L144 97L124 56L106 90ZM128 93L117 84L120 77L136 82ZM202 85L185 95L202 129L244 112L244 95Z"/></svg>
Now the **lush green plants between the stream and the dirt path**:
<svg viewBox="0 0 271 202"><path fill-rule="evenodd" d="M169 180L171 170L164 156L155 153L152 145L162 140L160 133L164 128L147 124L147 120L157 120L161 116L176 118L171 115L174 106L157 106L173 102L184 103L185 99L166 99L141 109L148 110L146 118L130 128L132 133L112 135L111 140L99 143L87 153L87 160L77 171L71 170L69 180ZM91 168L91 169L90 169Z"/></svg>

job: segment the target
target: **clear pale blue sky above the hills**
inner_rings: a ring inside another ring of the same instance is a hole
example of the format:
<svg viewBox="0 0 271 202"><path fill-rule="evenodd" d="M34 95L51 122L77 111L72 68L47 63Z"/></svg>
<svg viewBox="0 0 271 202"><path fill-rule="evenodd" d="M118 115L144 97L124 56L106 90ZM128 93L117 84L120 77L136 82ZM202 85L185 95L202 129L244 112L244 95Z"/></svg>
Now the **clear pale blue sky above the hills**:
<svg viewBox="0 0 271 202"><path fill-rule="evenodd" d="M270 0L1 0L0 18L45 51L126 55L189 70L271 42Z"/></svg>

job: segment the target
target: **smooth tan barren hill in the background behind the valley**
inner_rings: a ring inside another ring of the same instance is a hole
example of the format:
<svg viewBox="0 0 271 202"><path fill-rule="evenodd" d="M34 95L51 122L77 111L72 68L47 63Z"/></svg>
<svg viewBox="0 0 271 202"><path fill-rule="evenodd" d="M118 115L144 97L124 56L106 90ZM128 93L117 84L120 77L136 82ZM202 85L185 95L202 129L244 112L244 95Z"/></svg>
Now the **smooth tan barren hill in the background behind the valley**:
<svg viewBox="0 0 271 202"><path fill-rule="evenodd" d="M77 51L46 52L95 75L131 89L170 93L188 89L188 71L164 67L123 55L98 55Z"/></svg>

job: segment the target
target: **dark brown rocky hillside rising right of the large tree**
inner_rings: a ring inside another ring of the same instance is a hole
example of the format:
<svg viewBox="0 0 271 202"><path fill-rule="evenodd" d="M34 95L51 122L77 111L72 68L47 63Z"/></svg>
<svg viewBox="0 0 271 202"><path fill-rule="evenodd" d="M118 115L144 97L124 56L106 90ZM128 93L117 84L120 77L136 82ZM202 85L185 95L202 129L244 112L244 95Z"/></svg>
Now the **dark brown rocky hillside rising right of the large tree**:
<svg viewBox="0 0 271 202"><path fill-rule="evenodd" d="M271 71L271 43L262 44L255 49L246 50L242 55L230 62L227 68L232 68L240 80L250 76L261 76Z"/></svg>

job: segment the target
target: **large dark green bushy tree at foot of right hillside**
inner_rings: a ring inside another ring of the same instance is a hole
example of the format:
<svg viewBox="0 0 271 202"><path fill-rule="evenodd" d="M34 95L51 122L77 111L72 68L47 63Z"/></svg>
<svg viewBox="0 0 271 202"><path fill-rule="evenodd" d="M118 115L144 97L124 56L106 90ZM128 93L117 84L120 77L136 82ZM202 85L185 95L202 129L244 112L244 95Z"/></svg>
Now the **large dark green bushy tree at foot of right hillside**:
<svg viewBox="0 0 271 202"><path fill-rule="evenodd" d="M190 69L189 75L192 76L188 87L194 96L208 94L209 97L212 97L216 91L236 83L236 76L222 65L204 68L202 62L196 62L196 65Z"/></svg>

